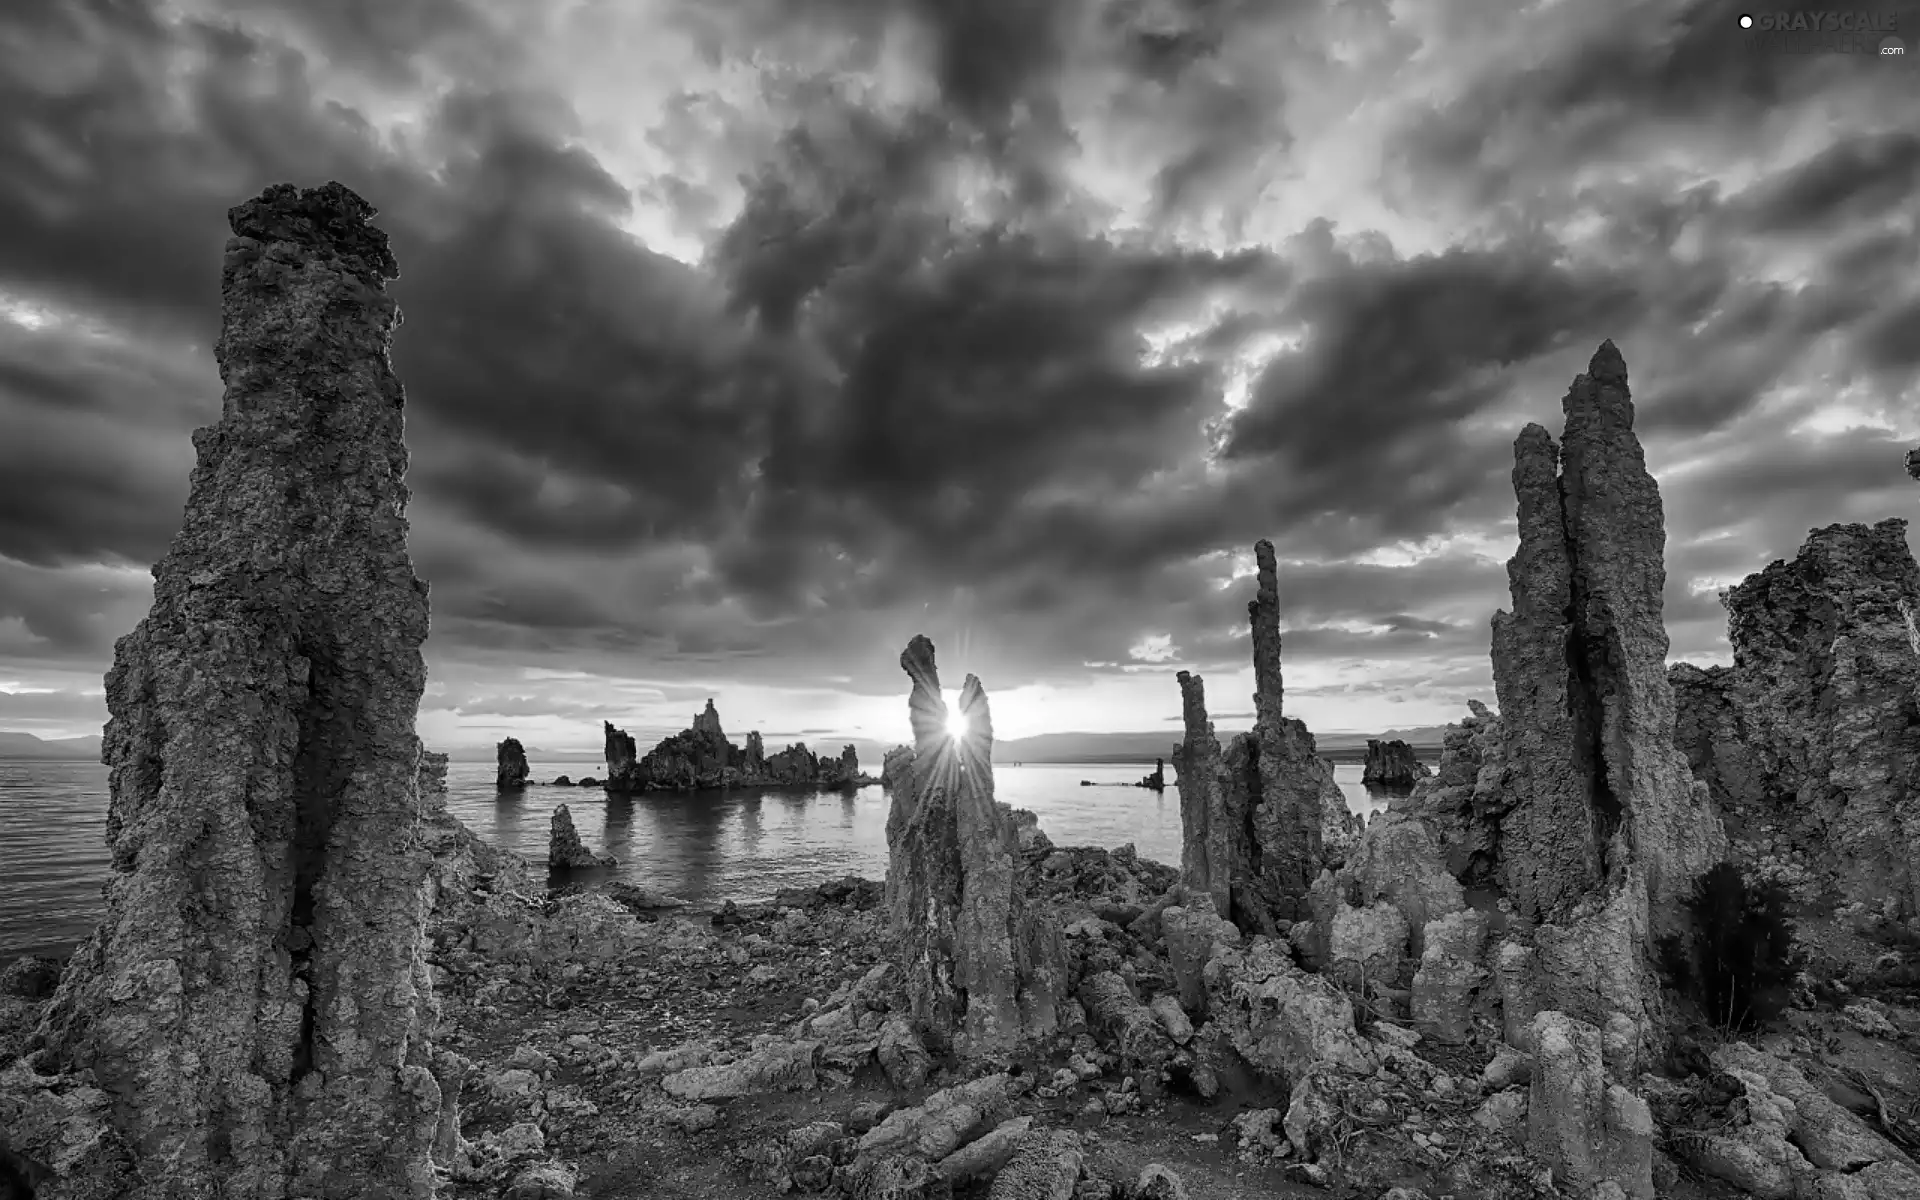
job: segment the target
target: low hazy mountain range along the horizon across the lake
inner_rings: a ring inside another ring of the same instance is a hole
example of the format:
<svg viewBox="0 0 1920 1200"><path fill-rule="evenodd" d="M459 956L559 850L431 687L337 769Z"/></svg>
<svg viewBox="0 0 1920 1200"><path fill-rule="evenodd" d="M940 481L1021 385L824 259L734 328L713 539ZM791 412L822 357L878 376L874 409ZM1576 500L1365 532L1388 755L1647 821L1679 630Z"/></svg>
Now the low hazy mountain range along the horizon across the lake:
<svg viewBox="0 0 1920 1200"><path fill-rule="evenodd" d="M1233 733L1235 730L1219 730L1221 743L1233 737ZM1440 743L1446 737L1446 726L1417 726L1411 730L1388 730L1386 733L1321 733L1315 737L1315 743L1325 758L1332 758L1336 762L1359 762L1367 753L1369 737L1398 737L1423 756L1438 756ZM864 741L860 737L822 737L808 741L808 745L814 753L835 753L849 741L852 741L852 747L858 751L864 766L879 770L879 762L887 753L883 743ZM993 760L1000 764L1152 762L1154 758L1173 758L1173 747L1177 743L1179 730L1165 730L1158 733L1039 733L1035 737L1008 737L996 741L993 745ZM641 751L647 749L651 747L641 747ZM768 745L768 749L772 751L776 747ZM455 747L447 751L447 756L453 762L493 762L493 747ZM42 739L33 733L0 733L0 758L100 762L100 739ZM601 755L595 751L549 751L532 745L526 747L526 758L530 762L601 762Z"/></svg>

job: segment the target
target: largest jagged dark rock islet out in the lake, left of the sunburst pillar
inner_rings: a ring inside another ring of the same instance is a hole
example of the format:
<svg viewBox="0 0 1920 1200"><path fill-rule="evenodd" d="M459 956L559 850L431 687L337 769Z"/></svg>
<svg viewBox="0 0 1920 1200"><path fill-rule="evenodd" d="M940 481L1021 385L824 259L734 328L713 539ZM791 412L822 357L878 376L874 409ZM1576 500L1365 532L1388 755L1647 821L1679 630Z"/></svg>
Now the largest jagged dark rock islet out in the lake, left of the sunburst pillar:
<svg viewBox="0 0 1920 1200"><path fill-rule="evenodd" d="M804 743L768 755L760 732L747 733L747 747L728 741L712 701L693 726L666 737L645 756L634 739L605 724L607 791L708 791L718 787L864 787L860 755L845 747L837 758L814 755Z"/></svg>

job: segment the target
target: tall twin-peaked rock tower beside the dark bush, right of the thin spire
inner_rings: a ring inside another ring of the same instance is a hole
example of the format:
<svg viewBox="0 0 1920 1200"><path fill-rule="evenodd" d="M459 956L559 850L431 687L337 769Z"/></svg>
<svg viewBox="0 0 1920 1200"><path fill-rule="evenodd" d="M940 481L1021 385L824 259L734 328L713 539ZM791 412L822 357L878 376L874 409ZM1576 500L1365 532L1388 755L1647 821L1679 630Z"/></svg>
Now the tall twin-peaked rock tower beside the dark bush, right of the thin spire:
<svg viewBox="0 0 1920 1200"><path fill-rule="evenodd" d="M1630 856L1665 933L1726 843L1672 745L1665 511L1613 342L1563 411L1563 445L1530 424L1513 447L1521 547L1507 563L1513 611L1494 614L1515 799L1500 828L1500 881L1526 916L1544 918Z"/></svg>

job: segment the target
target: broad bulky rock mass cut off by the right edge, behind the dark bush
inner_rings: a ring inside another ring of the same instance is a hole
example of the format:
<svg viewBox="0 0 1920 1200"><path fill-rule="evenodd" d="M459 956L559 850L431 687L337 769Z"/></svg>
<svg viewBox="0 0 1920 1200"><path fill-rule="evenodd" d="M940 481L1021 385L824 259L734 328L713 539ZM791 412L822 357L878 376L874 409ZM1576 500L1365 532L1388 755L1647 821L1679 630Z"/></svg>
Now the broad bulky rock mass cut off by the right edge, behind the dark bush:
<svg viewBox="0 0 1920 1200"><path fill-rule="evenodd" d="M1734 664L1670 668L1676 739L1795 899L1920 916L1920 566L1907 522L1812 530L1726 593Z"/></svg>

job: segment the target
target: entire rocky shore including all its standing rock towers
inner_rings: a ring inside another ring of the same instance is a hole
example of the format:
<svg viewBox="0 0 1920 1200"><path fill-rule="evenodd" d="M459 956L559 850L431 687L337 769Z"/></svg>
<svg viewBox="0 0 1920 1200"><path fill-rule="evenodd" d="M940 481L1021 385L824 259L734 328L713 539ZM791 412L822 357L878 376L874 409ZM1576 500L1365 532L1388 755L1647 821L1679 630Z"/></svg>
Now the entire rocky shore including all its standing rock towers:
<svg viewBox="0 0 1920 1200"><path fill-rule="evenodd" d="M1475 705L1369 826L1284 714L1260 543L1256 728L1223 747L1179 676L1177 868L1054 847L998 803L987 691L968 676L950 737L916 637L883 883L714 914L547 891L447 814L445 758L413 735L426 589L369 215L338 184L230 215L223 417L108 680L108 920L63 968L0 975L15 1187L1920 1194L1887 1100L1920 1094L1920 1012L1887 991L1920 981L1897 522L1816 532L1730 595L1732 668L1668 672L1661 501L1607 344L1561 444L1517 444L1501 710ZM708 716L647 758L628 739L609 774L768 770ZM1747 1037L1659 962L1699 945L1690 889L1728 860L1799 889L1818 931L1784 1025Z"/></svg>

